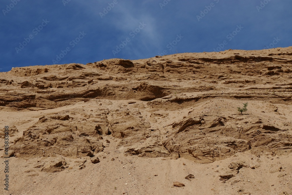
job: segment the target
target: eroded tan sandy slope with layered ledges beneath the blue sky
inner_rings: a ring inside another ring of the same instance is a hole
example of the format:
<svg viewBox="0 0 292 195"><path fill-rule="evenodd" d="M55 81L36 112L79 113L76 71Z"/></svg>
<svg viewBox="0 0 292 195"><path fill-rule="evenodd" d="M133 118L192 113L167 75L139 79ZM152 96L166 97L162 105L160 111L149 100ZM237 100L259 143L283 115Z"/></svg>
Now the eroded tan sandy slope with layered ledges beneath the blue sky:
<svg viewBox="0 0 292 195"><path fill-rule="evenodd" d="M292 194L291 56L228 50L0 73L3 184L4 126L11 156L0 194Z"/></svg>

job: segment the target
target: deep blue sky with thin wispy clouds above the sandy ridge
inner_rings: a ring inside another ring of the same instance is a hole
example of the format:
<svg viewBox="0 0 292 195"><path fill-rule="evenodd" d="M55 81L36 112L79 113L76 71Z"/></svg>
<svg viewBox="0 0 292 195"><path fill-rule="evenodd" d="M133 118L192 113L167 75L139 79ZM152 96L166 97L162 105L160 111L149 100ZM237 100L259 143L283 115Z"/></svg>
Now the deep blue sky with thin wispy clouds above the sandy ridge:
<svg viewBox="0 0 292 195"><path fill-rule="evenodd" d="M0 0L0 71L292 46L291 0Z"/></svg>

